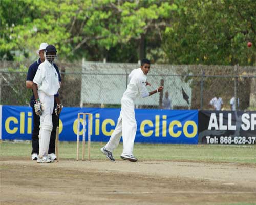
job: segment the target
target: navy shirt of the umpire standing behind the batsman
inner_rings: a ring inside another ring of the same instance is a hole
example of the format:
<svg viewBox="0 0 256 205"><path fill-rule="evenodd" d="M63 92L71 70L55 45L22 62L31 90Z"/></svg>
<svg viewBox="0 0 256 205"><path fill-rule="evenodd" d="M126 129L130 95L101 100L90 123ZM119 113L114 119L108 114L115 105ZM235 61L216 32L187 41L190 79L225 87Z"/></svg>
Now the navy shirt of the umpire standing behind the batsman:
<svg viewBox="0 0 256 205"><path fill-rule="evenodd" d="M40 65L41 59L39 58L37 61L35 61L33 64L30 65L29 70L28 70L28 74L27 74L27 80L26 81L33 81L36 71L38 69L38 66ZM59 68L56 64L53 64L54 68L56 69L58 75L59 75L59 82L61 82L61 77L60 77L60 73L59 73ZM32 90L33 93L33 90ZM56 95L54 95L55 97L58 96L58 93ZM32 95L32 97L30 98L30 106L34 107L35 104L35 96L34 93ZM54 103L54 107L55 107L55 103Z"/></svg>

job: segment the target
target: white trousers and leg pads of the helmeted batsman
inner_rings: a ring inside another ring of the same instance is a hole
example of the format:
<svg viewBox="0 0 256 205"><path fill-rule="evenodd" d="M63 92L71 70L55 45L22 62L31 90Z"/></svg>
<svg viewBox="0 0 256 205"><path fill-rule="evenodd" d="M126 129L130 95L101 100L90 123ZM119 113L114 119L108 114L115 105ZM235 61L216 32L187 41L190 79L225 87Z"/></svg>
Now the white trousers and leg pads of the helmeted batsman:
<svg viewBox="0 0 256 205"><path fill-rule="evenodd" d="M40 115L39 131L39 158L48 155L50 137L52 132L52 112L54 107L54 96L48 96L44 92L38 91L40 102L42 103L42 115Z"/></svg>

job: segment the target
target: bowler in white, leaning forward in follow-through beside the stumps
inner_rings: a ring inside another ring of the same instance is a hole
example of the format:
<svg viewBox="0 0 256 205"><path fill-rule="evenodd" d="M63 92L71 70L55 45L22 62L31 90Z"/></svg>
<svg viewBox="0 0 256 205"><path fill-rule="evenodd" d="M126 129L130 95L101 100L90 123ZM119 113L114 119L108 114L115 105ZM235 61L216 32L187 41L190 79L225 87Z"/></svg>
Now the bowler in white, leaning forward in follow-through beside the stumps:
<svg viewBox="0 0 256 205"><path fill-rule="evenodd" d="M143 59L140 68L134 69L128 77L129 84L121 99L121 111L116 128L112 133L109 142L100 149L110 161L115 161L112 152L117 148L121 136L123 137L123 152L120 156L121 159L129 160L131 162L137 161L137 158L133 155L134 140L137 131L134 101L139 96L144 98L163 90L163 86L160 86L154 91L147 91L146 86L150 85L150 83L147 82L147 74L149 71L150 60Z"/></svg>

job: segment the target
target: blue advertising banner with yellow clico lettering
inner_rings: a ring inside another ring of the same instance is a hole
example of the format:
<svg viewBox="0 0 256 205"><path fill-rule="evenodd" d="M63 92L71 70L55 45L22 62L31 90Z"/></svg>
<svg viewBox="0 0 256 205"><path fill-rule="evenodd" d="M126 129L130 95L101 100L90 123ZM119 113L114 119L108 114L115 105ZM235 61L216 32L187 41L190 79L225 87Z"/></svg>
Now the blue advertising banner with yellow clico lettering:
<svg viewBox="0 0 256 205"><path fill-rule="evenodd" d="M92 114L91 141L106 142L115 129L120 109L63 108L59 123L59 139L61 141L76 141L77 114L79 112ZM3 105L1 124L2 139L31 140L33 129L32 115L32 108L30 107ZM197 110L135 109L135 115L137 121L135 142L198 143ZM80 135L82 135L82 122L83 119L80 119ZM88 119L86 119L87 123Z"/></svg>

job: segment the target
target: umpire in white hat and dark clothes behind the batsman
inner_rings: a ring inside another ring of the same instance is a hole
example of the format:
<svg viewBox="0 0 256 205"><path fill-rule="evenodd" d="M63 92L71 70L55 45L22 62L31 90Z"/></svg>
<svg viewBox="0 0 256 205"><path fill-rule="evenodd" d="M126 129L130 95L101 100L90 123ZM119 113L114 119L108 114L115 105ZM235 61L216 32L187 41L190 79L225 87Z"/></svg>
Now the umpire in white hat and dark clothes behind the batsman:
<svg viewBox="0 0 256 205"><path fill-rule="evenodd" d="M40 48L39 50L37 50L37 54L40 56L40 58L38 58L37 61L35 61L33 64L30 65L29 70L28 70L28 74L27 74L27 80L26 80L26 87L30 88L32 90L32 84L33 84L33 79L34 76L36 74L36 71L38 69L38 66L40 65L40 63L45 61L45 55L44 55L44 51L46 49L46 47L48 46L47 43L41 43L40 44ZM59 73L59 69L57 67L56 64L53 64L54 68L56 69L58 76L59 76L59 82L61 84L61 77L60 77L60 73ZM33 91L32 91L33 93ZM58 108L62 109L62 105L60 103L60 99L59 99L59 95L57 93L57 95L54 96L55 100L54 100L54 110L56 108L56 105L58 103ZM32 107L33 110L33 131L32 131L32 160L37 160L38 158L38 153L39 153L39 126L40 126L40 117L39 115L35 114L35 108L34 108L34 104L35 104L35 96L34 94L32 95L31 99L30 99L30 106ZM59 112L60 112L59 111ZM52 113L52 124L53 124L53 129L52 129L52 133L51 133L51 138L50 138L50 144L49 144L49 158L51 160L55 160L56 159L56 155L55 155L55 138L56 138L56 128L57 128L57 120L58 117L55 114L55 112Z"/></svg>

